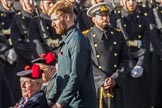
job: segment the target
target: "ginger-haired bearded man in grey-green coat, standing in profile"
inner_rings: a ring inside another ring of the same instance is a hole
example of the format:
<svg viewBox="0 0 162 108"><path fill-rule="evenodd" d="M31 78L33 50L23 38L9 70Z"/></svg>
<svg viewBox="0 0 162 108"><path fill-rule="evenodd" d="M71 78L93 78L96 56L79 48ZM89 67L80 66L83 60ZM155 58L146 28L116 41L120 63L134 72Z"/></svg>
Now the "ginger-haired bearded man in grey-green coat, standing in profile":
<svg viewBox="0 0 162 108"><path fill-rule="evenodd" d="M58 1L51 8L52 26L63 36L56 83L49 97L54 108L97 108L90 45L74 24L73 7Z"/></svg>

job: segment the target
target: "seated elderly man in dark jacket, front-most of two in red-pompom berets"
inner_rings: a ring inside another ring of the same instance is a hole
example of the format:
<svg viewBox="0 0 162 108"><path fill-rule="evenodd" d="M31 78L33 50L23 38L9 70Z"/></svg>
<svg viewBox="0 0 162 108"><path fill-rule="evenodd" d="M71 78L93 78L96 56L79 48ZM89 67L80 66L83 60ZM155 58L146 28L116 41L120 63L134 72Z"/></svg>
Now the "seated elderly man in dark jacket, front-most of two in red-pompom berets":
<svg viewBox="0 0 162 108"><path fill-rule="evenodd" d="M25 68L25 71L17 73L20 77L22 98L16 108L49 108L45 94L40 90L42 79L39 65L33 64L32 69L29 66Z"/></svg>

